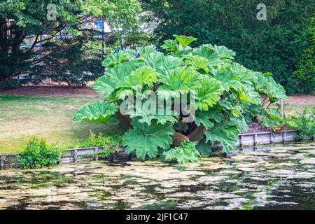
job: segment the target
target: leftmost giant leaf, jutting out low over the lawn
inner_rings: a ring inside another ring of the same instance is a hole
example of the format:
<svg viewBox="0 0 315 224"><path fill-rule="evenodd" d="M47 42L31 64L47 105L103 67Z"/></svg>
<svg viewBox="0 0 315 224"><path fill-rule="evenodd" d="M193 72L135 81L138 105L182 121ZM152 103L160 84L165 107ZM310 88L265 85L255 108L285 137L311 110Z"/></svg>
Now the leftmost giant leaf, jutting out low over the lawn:
<svg viewBox="0 0 315 224"><path fill-rule="evenodd" d="M89 121L92 123L106 123L113 114L118 111L118 106L108 103L96 102L88 106L83 106L79 111L77 111L73 120L76 123L82 121Z"/></svg>

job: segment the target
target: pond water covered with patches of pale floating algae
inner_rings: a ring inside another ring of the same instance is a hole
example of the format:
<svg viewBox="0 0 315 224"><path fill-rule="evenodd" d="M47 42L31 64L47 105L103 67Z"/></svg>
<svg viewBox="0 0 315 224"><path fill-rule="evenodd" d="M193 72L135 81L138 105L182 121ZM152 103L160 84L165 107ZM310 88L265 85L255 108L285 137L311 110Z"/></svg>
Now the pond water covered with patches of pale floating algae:
<svg viewBox="0 0 315 224"><path fill-rule="evenodd" d="M315 144L0 171L0 209L315 209Z"/></svg>

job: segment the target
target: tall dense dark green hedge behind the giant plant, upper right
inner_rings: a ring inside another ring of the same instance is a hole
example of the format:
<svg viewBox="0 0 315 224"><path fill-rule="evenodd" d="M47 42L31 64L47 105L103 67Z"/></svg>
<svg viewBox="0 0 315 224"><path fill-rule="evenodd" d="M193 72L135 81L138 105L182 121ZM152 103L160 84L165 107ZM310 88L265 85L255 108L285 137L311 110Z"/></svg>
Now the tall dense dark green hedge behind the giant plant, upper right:
<svg viewBox="0 0 315 224"><path fill-rule="evenodd" d="M314 35L314 0L143 2L152 13L151 20L160 22L155 30L162 37L160 44L173 34L195 36L196 45L225 45L237 52L235 59L240 64L274 73L289 94L314 90L314 81L307 83L314 80L314 41L313 47L309 45L310 35ZM266 21L256 18L258 3L267 6Z"/></svg>

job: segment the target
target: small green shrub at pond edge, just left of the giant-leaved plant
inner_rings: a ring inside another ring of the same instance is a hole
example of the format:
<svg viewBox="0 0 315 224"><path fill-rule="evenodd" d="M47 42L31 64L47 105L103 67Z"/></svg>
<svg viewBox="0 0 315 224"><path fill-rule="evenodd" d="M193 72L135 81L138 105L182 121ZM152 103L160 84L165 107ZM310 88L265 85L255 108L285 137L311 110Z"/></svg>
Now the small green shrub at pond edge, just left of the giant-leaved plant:
<svg viewBox="0 0 315 224"><path fill-rule="evenodd" d="M120 151L120 146L118 145L118 141L116 139L112 139L111 137L104 137L102 133L99 135L90 132L90 137L83 143L83 147L97 147L102 146L104 151L98 152L99 157L106 158L109 155L114 153L118 153Z"/></svg>

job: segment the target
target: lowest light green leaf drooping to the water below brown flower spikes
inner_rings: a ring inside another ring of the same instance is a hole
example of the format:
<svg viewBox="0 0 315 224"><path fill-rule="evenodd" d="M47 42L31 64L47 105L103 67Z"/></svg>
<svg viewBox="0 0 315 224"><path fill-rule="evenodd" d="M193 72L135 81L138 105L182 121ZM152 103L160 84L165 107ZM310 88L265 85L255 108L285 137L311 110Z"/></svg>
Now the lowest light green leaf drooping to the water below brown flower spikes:
<svg viewBox="0 0 315 224"><path fill-rule="evenodd" d="M177 160L179 163L199 162L200 153L197 151L194 142L183 141L181 146L164 152L166 160Z"/></svg>

